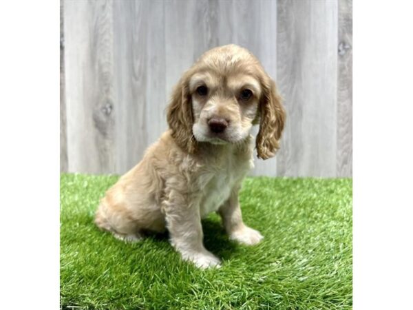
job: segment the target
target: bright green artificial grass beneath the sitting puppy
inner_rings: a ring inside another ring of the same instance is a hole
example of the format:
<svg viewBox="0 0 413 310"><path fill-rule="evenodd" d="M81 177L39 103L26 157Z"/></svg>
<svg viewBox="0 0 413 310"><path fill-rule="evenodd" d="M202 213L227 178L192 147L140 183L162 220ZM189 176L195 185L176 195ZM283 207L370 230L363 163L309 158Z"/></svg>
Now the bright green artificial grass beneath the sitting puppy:
<svg viewBox="0 0 413 310"><path fill-rule="evenodd" d="M222 258L182 262L167 235L116 240L94 211L118 176L61 175L63 309L351 309L352 180L246 178L240 203L264 240L231 242L217 215L204 244Z"/></svg>

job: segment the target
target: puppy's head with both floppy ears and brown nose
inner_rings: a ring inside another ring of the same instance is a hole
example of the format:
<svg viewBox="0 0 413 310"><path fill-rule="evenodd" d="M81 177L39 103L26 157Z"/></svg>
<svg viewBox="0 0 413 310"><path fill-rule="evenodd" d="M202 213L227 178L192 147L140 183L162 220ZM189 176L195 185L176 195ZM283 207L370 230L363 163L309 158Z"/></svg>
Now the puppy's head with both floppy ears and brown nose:
<svg viewBox="0 0 413 310"><path fill-rule="evenodd" d="M204 53L173 90L167 121L189 153L198 143L240 143L260 123L258 157L279 148L285 111L274 81L244 48L224 45Z"/></svg>

